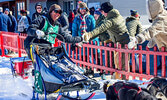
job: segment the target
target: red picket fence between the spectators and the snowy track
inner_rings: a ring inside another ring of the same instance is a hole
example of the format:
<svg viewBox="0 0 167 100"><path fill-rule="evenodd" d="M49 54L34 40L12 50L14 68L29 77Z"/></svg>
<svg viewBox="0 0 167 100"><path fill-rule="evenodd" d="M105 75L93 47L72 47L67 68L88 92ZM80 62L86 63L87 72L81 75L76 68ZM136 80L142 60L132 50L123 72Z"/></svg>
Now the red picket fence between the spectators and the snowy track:
<svg viewBox="0 0 167 100"><path fill-rule="evenodd" d="M18 34L11 32L0 32L0 46L2 54L5 55L4 49L18 53L18 57L26 53L24 50L24 39L26 34ZM58 43L61 45L61 41ZM138 50L129 50L127 45L122 48L121 45L104 44L103 46L90 44L83 44L82 48L75 48L71 51L71 44L66 44L66 49L69 57L79 66L96 68L100 71L105 71L106 74L113 74L114 72L125 75L128 79L132 76L133 79L138 77L140 80L150 79L151 77L160 76L166 77L166 56L165 48L161 51L154 47L153 50L142 50L142 46L138 46ZM119 67L114 66L114 53L118 53ZM125 68L122 66L122 56L125 55ZM129 63L130 56L130 63ZM160 68L157 68L161 65ZM136 67L138 66L138 68Z"/></svg>

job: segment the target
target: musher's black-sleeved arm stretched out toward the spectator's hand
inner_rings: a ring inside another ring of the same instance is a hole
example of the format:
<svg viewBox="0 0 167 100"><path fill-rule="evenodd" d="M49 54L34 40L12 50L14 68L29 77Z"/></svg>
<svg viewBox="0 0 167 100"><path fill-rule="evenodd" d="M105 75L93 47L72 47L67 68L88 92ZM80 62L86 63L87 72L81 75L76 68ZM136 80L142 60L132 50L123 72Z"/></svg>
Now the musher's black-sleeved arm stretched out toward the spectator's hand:
<svg viewBox="0 0 167 100"><path fill-rule="evenodd" d="M80 36L73 37L71 34L69 34L69 31L63 31L61 27L59 28L59 34L61 34L64 37L66 43L74 44L74 43L82 42L83 40L82 37ZM57 36L56 38L63 41L60 36Z"/></svg>

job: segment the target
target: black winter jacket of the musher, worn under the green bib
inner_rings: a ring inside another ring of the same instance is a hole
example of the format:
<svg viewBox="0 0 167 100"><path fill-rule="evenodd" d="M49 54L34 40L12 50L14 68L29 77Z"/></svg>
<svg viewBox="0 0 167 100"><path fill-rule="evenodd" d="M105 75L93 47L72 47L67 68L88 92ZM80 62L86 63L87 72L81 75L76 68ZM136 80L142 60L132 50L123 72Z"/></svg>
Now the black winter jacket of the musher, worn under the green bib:
<svg viewBox="0 0 167 100"><path fill-rule="evenodd" d="M25 39L25 43L24 43L26 48L29 48L30 42L34 38L37 38L36 30L42 30L44 28L46 19L49 20L49 24L51 24L52 26L57 25L59 27L58 34L61 34L64 37L65 42L78 43L82 41L82 37L79 37L79 36L72 37L68 32L63 31L60 23L58 21L53 22L50 16L47 16L47 17L40 16L36 20L34 20L32 24L28 27L28 30L27 30L28 37ZM57 37L57 38L62 40L61 37L60 38Z"/></svg>

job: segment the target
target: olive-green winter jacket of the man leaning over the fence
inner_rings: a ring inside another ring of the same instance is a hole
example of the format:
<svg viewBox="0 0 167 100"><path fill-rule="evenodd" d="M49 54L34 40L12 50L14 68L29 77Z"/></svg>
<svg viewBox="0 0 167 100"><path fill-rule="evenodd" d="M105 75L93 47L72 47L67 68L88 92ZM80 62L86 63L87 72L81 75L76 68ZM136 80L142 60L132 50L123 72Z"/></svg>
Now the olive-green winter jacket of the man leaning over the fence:
<svg viewBox="0 0 167 100"><path fill-rule="evenodd" d="M90 33L92 36L97 36L105 31L108 32L113 43L127 44L129 42L125 20L116 9L110 10L103 23Z"/></svg>

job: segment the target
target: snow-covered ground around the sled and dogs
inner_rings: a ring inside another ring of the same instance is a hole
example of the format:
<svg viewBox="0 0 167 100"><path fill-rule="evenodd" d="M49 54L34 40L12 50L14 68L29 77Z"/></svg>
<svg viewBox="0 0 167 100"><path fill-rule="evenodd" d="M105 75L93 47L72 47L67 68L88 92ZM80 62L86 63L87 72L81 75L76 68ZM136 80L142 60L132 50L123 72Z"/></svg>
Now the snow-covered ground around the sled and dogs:
<svg viewBox="0 0 167 100"><path fill-rule="evenodd" d="M120 80L105 80L110 81L113 84ZM104 81L98 81L101 86ZM142 83L140 80L132 80L135 83ZM10 59L0 57L0 100L31 100L33 96L32 92L33 78L29 76L28 79L22 79L21 77L13 77L11 73ZM145 87L145 86L144 86ZM82 96L86 96L84 92ZM95 96L91 100L106 100L105 94L102 91L96 92Z"/></svg>

